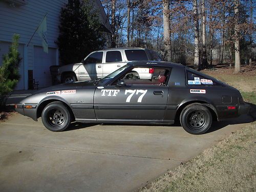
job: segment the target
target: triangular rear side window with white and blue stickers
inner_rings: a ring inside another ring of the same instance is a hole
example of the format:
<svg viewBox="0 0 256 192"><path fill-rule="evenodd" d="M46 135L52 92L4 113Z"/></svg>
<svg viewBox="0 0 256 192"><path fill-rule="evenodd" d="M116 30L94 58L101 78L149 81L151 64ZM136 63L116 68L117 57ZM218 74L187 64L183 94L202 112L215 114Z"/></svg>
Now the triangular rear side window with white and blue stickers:
<svg viewBox="0 0 256 192"><path fill-rule="evenodd" d="M187 71L187 84L189 86L217 86L219 83L202 75Z"/></svg>

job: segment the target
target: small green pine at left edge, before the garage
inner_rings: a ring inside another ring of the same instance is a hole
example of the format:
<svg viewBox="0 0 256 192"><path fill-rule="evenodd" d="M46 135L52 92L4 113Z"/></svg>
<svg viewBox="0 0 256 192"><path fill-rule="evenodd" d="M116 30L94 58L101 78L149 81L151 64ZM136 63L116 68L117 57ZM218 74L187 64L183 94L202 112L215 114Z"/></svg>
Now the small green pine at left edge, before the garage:
<svg viewBox="0 0 256 192"><path fill-rule="evenodd" d="M19 35L14 34L9 52L3 55L3 65L0 67L0 95L11 92L19 79L18 66L20 62L18 52Z"/></svg>

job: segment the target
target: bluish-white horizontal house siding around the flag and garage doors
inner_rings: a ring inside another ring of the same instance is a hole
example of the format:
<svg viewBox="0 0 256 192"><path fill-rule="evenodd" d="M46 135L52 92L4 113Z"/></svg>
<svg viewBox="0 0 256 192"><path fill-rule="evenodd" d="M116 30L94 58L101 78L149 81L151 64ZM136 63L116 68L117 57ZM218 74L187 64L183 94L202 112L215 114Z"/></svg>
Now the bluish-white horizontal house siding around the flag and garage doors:
<svg viewBox="0 0 256 192"><path fill-rule="evenodd" d="M28 47L27 44L40 24L42 18L47 14L47 39L49 48L58 52L56 44L59 35L59 15L62 7L68 3L68 0L26 0L26 5L13 7L8 0L0 1L0 44L1 41L12 42L14 33L20 35L19 44L24 44L24 74L25 89L28 89L28 70L35 70L34 46L41 46L41 38L37 33L34 34ZM26 49L26 50L25 50ZM2 56L2 55L1 55ZM2 59L0 59L2 60ZM0 63L2 65L2 62ZM51 65L58 65L58 58Z"/></svg>

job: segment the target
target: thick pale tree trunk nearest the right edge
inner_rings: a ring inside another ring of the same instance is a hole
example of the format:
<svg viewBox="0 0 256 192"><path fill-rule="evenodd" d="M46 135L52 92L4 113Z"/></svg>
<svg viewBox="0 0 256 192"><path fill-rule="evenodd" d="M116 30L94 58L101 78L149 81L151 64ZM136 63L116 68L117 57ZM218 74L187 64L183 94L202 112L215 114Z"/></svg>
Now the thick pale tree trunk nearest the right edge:
<svg viewBox="0 0 256 192"><path fill-rule="evenodd" d="M241 72L240 46L239 46L239 29L238 29L238 11L239 0L234 0L234 73Z"/></svg>

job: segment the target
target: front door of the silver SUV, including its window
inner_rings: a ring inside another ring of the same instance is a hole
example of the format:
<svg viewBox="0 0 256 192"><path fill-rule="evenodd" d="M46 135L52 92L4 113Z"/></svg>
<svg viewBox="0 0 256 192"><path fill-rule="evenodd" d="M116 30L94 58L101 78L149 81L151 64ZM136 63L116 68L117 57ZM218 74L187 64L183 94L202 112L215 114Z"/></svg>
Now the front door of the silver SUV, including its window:
<svg viewBox="0 0 256 192"><path fill-rule="evenodd" d="M93 52L83 61L83 65L79 67L80 80L94 80L102 77L103 51Z"/></svg>

